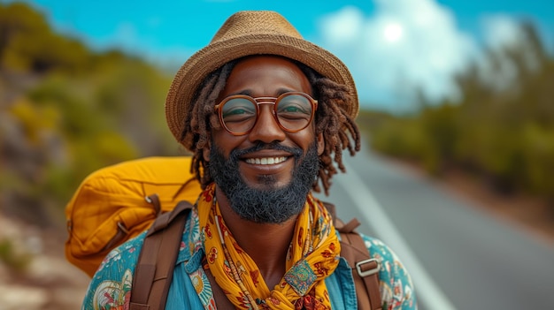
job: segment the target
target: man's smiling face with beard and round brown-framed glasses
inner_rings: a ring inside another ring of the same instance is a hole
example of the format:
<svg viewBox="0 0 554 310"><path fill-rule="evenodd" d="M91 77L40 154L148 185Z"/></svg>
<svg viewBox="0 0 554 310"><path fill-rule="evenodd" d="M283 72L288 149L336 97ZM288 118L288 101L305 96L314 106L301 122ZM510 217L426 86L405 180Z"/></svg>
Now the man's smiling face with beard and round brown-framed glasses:
<svg viewBox="0 0 554 310"><path fill-rule="evenodd" d="M304 73L282 57L245 57L229 75L217 106L225 130L212 132L204 161L220 208L241 225L294 224L304 208L323 152L310 95Z"/></svg>

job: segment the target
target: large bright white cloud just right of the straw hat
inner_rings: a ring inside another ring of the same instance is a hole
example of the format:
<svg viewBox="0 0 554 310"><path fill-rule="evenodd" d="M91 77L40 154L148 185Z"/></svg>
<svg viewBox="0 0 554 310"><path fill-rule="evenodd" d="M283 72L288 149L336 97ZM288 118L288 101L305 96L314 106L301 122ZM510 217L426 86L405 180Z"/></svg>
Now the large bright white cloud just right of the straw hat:
<svg viewBox="0 0 554 310"><path fill-rule="evenodd" d="M349 66L360 101L406 108L415 87L433 100L455 96L451 77L475 55L476 43L452 12L435 0L374 2L372 16L345 7L319 27L322 45Z"/></svg>

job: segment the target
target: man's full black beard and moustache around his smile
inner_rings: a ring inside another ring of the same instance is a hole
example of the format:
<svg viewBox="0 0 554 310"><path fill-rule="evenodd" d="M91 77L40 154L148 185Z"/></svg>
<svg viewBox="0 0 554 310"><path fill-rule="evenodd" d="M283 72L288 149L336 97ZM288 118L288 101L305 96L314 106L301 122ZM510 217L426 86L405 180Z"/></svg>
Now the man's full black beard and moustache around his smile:
<svg viewBox="0 0 554 310"><path fill-rule="evenodd" d="M263 189L246 185L238 172L239 158L250 152L271 148L294 155L295 168L289 185L276 187L273 176L262 176ZM260 143L249 149L234 149L226 160L212 142L208 170L219 189L225 194L231 208L242 219L255 223L284 223L304 208L319 170L319 155L316 142L303 156L303 150L283 147L277 143Z"/></svg>

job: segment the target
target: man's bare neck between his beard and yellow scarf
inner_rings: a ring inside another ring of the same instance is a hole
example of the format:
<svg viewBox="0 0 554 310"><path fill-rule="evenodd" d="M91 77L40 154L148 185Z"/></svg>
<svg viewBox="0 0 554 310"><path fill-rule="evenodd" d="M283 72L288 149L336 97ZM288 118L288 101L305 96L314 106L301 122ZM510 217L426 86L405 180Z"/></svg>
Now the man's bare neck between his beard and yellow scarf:
<svg viewBox="0 0 554 310"><path fill-rule="evenodd" d="M216 198L228 230L242 250L256 262L265 284L272 290L287 271L286 259L296 216L285 223L254 223L236 215L221 191L216 191Z"/></svg>

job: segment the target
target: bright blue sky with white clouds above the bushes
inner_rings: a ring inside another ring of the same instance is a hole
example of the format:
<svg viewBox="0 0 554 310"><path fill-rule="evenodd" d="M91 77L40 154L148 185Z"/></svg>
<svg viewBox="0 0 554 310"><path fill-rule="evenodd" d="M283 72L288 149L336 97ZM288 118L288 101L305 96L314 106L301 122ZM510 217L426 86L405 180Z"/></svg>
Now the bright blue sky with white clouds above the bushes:
<svg viewBox="0 0 554 310"><path fill-rule="evenodd" d="M433 99L455 98L452 75L481 59L484 48L516 40L521 20L532 21L554 49L551 0L27 3L43 11L59 32L72 34L94 49L123 49L173 68L203 48L233 12L279 11L304 38L335 53L350 67L363 105L387 110L409 108L415 87Z"/></svg>

